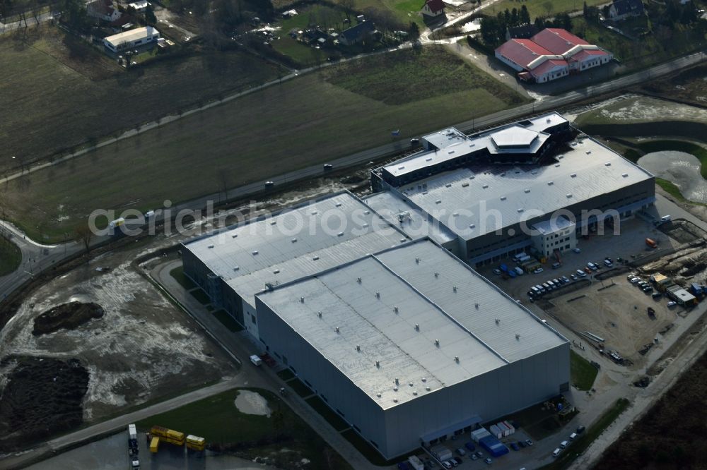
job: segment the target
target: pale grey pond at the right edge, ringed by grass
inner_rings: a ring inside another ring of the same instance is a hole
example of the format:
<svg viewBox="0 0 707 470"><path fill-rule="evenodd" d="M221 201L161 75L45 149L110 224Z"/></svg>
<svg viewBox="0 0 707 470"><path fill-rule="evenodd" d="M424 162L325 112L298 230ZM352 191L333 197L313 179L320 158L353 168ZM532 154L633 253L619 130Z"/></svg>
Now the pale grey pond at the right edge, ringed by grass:
<svg viewBox="0 0 707 470"><path fill-rule="evenodd" d="M707 181L700 174L700 161L694 155L653 152L638 159L638 165L658 178L674 183L685 198L695 203L707 203Z"/></svg>

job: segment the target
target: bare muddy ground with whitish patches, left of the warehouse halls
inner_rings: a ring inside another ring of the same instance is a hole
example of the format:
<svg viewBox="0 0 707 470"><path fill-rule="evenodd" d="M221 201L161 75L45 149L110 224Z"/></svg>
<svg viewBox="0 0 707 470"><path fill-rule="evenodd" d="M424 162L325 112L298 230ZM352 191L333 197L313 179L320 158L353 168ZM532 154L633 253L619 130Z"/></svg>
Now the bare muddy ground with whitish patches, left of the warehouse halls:
<svg viewBox="0 0 707 470"><path fill-rule="evenodd" d="M48 282L25 299L0 331L0 360L78 359L88 370L79 423L235 372L221 349L134 270L131 262L141 251L144 247L102 255ZM98 272L96 267L112 270ZM71 301L95 303L105 313L71 330L33 335L35 317ZM13 387L14 370L16 361L0 363L0 407L8 399L6 390ZM42 389L50 387L52 379L42 375L32 383Z"/></svg>

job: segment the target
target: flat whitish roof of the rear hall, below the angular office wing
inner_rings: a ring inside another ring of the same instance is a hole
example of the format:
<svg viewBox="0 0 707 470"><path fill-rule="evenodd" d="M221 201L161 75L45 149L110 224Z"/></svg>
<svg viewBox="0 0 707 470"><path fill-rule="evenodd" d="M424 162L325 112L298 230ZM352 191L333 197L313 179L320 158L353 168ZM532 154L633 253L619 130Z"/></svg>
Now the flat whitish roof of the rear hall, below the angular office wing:
<svg viewBox="0 0 707 470"><path fill-rule="evenodd" d="M436 174L397 191L470 240L653 177L591 138L573 142L554 164L471 168Z"/></svg>

